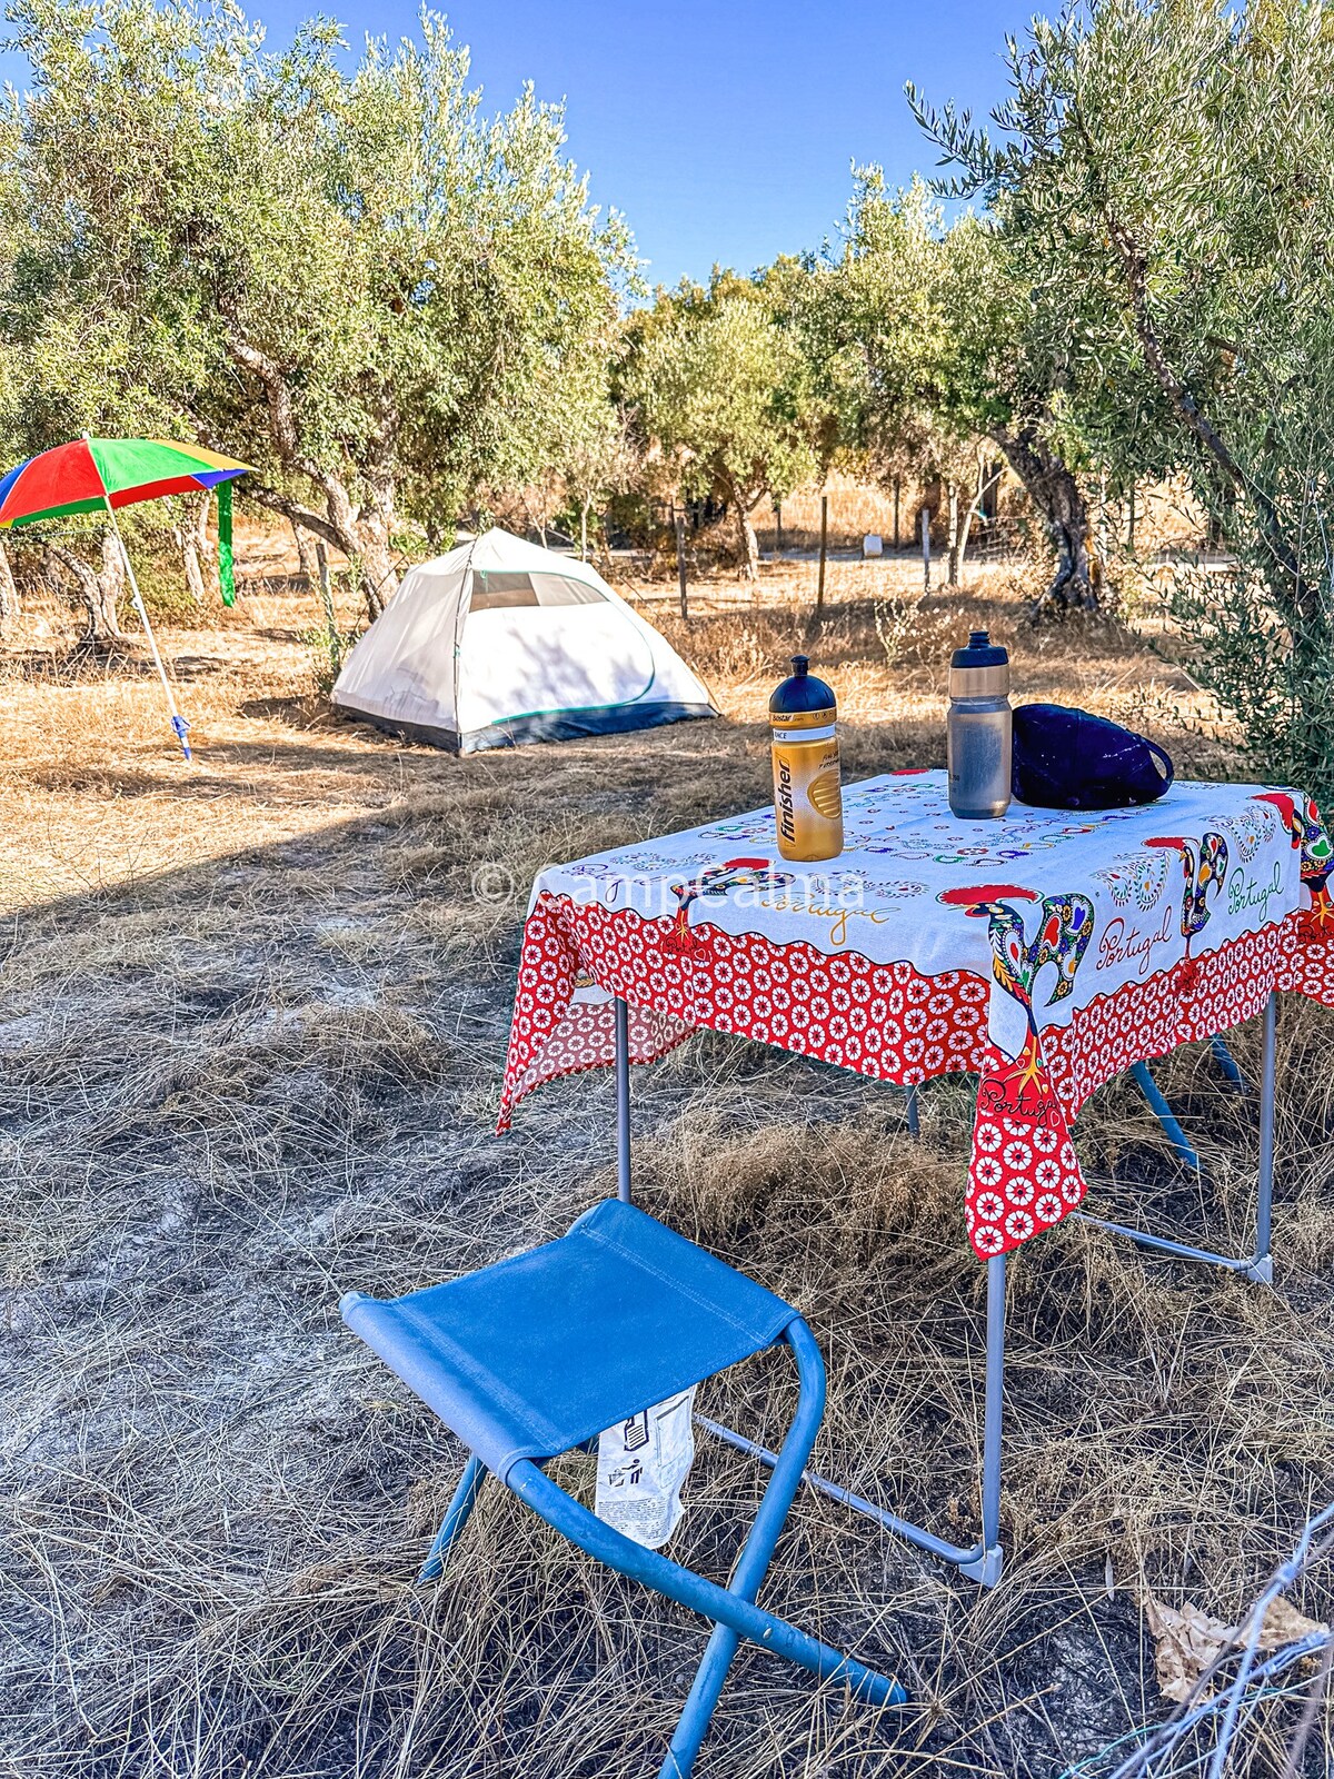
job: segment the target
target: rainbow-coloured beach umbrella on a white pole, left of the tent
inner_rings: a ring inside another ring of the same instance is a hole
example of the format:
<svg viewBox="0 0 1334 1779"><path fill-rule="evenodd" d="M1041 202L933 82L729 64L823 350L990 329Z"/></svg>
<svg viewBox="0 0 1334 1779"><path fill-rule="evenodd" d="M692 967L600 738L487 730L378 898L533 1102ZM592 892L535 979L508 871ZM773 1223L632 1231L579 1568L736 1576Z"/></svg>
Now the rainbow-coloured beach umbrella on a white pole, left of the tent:
<svg viewBox="0 0 1334 1779"><path fill-rule="evenodd" d="M190 758L189 724L176 708L176 696L162 664L153 626L148 621L144 598L139 592L133 562L125 548L116 523L119 507L139 500L158 500L164 495L196 495L219 489L219 568L222 571L224 600L231 587L231 482L245 475L249 464L219 457L199 445L176 445L171 439L94 439L85 432L69 445L55 445L39 452L0 479L0 530L36 525L39 519L62 519L75 512L105 512L130 580L133 608L144 626L153 664L171 710L171 728Z"/></svg>

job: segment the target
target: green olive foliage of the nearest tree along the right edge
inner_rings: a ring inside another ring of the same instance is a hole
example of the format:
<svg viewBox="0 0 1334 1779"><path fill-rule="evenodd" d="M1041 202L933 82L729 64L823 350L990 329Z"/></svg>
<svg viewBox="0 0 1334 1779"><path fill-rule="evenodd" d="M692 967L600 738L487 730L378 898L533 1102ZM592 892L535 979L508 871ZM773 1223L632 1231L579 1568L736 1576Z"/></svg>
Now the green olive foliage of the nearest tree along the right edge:
<svg viewBox="0 0 1334 1779"><path fill-rule="evenodd" d="M1238 557L1176 617L1263 770L1334 790L1334 32L1311 0L1094 0L1010 44L982 192L1112 484L1188 477Z"/></svg>

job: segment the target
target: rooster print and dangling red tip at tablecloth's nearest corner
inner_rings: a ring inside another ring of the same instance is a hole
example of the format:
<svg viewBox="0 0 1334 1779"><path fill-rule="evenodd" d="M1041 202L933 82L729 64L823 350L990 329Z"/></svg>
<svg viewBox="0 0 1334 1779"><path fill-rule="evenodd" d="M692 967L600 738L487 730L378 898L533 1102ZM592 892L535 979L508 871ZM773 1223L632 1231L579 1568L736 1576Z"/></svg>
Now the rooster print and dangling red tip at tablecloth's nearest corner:
<svg viewBox="0 0 1334 1779"><path fill-rule="evenodd" d="M1055 964L1048 1007L1074 993L1074 977L1094 936L1094 904L1085 895L1039 897L1010 884L944 890L941 902L987 918L991 973L1025 1010L1028 1030L1017 1057L992 1042L978 1083L973 1165L968 1176L968 1236L984 1260L1026 1242L1073 1210L1085 1192L1065 1107L1051 1083L1033 1010L1037 978ZM1014 902L1039 902L1028 938Z"/></svg>

